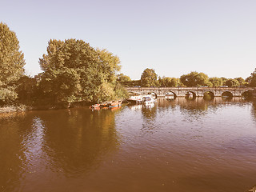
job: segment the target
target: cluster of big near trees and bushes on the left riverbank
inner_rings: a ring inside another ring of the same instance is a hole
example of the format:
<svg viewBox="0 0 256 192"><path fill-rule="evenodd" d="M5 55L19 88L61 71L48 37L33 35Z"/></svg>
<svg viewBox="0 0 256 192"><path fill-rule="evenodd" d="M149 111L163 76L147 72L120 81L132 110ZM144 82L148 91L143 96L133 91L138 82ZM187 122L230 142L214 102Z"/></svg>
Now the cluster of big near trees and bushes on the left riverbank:
<svg viewBox="0 0 256 192"><path fill-rule="evenodd" d="M82 40L51 39L39 59L42 73L24 72L24 54L16 34L0 23L0 105L70 106L126 98L117 81L120 59L108 50L95 49Z"/></svg>

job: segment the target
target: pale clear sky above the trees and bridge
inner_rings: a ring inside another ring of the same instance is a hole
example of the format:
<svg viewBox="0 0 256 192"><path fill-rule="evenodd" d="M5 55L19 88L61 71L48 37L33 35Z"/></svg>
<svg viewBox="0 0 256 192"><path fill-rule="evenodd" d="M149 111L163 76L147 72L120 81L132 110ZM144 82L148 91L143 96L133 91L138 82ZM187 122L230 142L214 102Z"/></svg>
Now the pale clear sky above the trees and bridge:
<svg viewBox="0 0 256 192"><path fill-rule="evenodd" d="M247 78L256 68L255 0L1 0L0 22L14 31L26 74L50 39L82 39L121 60L120 73L140 79L154 69L179 78Z"/></svg>

